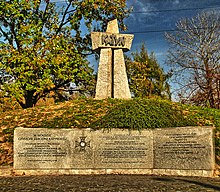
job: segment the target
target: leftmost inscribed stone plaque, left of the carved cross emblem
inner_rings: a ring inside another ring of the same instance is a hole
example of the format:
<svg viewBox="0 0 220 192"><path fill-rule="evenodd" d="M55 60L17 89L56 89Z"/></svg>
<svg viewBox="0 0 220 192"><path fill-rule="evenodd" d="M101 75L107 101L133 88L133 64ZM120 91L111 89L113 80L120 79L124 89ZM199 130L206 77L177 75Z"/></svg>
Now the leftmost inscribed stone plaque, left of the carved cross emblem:
<svg viewBox="0 0 220 192"><path fill-rule="evenodd" d="M70 138L63 129L16 128L14 168L70 168Z"/></svg>

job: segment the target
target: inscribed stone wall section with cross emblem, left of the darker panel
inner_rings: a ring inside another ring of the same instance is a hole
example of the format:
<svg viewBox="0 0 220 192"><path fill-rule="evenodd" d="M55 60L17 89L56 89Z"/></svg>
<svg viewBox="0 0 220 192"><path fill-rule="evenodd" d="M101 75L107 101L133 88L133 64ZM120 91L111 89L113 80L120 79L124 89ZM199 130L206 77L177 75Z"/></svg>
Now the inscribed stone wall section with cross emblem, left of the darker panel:
<svg viewBox="0 0 220 192"><path fill-rule="evenodd" d="M152 168L152 142L152 131L16 128L14 168Z"/></svg>

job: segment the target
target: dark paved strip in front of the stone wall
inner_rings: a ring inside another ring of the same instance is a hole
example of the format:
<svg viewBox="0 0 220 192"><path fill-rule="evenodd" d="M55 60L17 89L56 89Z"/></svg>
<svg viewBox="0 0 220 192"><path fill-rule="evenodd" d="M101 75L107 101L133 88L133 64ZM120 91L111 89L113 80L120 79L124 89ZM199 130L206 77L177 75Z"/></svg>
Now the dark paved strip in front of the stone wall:
<svg viewBox="0 0 220 192"><path fill-rule="evenodd" d="M220 178L149 175L1 176L1 192L214 192Z"/></svg>

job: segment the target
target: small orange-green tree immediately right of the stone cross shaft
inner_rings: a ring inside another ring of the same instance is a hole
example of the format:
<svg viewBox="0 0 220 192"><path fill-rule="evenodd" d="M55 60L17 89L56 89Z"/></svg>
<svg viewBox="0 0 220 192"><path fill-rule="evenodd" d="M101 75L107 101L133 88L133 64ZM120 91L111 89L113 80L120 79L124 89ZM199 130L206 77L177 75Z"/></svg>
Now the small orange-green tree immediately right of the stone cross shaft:
<svg viewBox="0 0 220 192"><path fill-rule="evenodd" d="M126 56L125 62L129 87L133 96L159 96L170 99L170 86L167 82L169 74L166 74L160 67L155 54L152 52L149 55L143 44L140 52L133 52L131 56Z"/></svg>

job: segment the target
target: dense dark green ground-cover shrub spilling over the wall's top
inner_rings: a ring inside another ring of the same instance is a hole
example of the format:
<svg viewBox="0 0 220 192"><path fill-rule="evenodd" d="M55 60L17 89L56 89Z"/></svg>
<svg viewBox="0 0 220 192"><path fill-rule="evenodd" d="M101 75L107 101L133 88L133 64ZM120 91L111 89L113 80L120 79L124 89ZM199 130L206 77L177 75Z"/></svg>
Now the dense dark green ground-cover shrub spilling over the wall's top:
<svg viewBox="0 0 220 192"><path fill-rule="evenodd" d="M91 128L163 128L196 125L175 104L160 99L132 99L110 109Z"/></svg>

